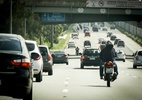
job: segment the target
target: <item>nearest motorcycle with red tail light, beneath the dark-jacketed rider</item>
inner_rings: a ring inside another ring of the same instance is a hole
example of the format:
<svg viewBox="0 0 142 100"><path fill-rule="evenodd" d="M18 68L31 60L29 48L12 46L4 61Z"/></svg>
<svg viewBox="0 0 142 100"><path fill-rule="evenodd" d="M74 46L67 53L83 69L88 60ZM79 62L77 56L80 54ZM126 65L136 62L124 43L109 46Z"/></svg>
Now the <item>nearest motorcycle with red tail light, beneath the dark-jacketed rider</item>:
<svg viewBox="0 0 142 100"><path fill-rule="evenodd" d="M104 81L107 81L107 87L110 87L110 83L116 78L117 74L114 72L114 67L115 65L111 61L105 62L103 65Z"/></svg>

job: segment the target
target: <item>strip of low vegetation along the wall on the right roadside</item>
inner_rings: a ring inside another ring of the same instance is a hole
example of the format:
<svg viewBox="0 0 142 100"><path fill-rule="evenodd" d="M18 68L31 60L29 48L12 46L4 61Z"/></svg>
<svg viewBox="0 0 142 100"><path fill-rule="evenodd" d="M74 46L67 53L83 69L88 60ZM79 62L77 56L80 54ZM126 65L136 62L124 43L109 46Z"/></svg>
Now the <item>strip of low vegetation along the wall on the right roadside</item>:
<svg viewBox="0 0 142 100"><path fill-rule="evenodd" d="M142 46L142 38L136 35L133 35L132 33L126 31L125 29L116 26L116 28L122 32L123 34L125 34L126 36L128 36L129 38L131 38L133 41L135 41L136 43L138 43L140 46Z"/></svg>

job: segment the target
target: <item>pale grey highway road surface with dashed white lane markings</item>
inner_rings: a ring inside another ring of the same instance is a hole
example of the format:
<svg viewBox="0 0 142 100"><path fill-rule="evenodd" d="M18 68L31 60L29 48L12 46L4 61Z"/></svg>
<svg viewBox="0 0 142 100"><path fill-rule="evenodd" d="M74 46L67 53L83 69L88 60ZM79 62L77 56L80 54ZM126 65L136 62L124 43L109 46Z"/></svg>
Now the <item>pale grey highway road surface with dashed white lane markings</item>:
<svg viewBox="0 0 142 100"><path fill-rule="evenodd" d="M126 44L125 48L115 47L116 49L123 49L127 55L141 49L138 44L118 30L111 31ZM79 39L70 39L70 41L75 41L81 52L84 40L90 40L92 47L98 48L98 38L109 39L106 33L107 31L91 32L91 37L84 37L80 31ZM65 51L70 55L75 54L74 48L66 48ZM34 82L33 100L141 100L142 67L133 69L130 59L116 63L119 69L118 78L111 83L111 87L107 87L106 81L99 77L99 66L85 66L84 69L80 69L79 56L70 56L69 65L54 64L52 76L43 73L43 81ZM0 100L19 99L0 96Z"/></svg>

